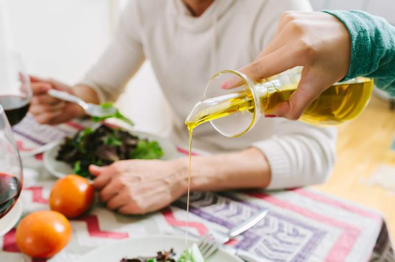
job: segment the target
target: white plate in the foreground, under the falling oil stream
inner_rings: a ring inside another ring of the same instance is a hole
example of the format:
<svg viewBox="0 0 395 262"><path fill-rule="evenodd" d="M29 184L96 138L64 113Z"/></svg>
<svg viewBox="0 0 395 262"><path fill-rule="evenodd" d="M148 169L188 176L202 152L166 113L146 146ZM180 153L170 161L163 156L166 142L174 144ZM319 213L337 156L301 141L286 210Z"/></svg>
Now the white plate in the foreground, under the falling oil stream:
<svg viewBox="0 0 395 262"><path fill-rule="evenodd" d="M189 244L194 243L193 240ZM122 258L155 256L158 251L174 249L178 256L185 249L185 237L172 235L153 235L122 240L114 244L92 250L78 262L119 262ZM218 250L207 262L242 262L239 258L223 250Z"/></svg>

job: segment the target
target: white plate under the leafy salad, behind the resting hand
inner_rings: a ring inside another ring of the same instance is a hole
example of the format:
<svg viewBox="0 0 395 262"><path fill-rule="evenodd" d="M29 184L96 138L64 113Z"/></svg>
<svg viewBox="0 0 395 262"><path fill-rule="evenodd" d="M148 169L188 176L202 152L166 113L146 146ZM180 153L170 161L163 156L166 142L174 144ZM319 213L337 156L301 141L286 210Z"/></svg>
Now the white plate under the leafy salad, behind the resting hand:
<svg viewBox="0 0 395 262"><path fill-rule="evenodd" d="M180 157L176 146L168 139L145 132L131 131L131 133L143 139L147 138L150 141L158 141L160 147L163 150L163 157L161 158L163 160L171 160ZM45 151L43 159L44 166L48 172L59 178L74 173L73 168L70 165L63 161L56 160L56 156L58 155L58 151L62 143L63 141L55 144L52 148Z"/></svg>

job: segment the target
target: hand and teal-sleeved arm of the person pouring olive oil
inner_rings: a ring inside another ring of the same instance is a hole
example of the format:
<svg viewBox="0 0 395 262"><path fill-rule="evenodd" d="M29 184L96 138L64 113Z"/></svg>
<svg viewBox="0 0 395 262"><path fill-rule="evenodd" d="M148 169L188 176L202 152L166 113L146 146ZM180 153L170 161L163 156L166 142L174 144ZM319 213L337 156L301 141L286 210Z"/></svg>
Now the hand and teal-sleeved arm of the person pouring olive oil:
<svg viewBox="0 0 395 262"><path fill-rule="evenodd" d="M332 83L357 76L395 97L395 27L360 10L285 12L274 39L239 71L263 79L304 66L298 89L271 114L296 120Z"/></svg>

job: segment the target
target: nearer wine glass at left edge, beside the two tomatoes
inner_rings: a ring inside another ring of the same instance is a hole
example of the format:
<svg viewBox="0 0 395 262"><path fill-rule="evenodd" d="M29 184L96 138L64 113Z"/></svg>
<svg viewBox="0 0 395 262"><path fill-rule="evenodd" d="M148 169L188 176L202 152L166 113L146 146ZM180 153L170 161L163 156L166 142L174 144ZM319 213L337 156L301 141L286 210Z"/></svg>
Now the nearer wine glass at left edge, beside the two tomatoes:
<svg viewBox="0 0 395 262"><path fill-rule="evenodd" d="M0 105L0 235L19 220L22 206L18 197L22 190L22 163L11 126Z"/></svg>

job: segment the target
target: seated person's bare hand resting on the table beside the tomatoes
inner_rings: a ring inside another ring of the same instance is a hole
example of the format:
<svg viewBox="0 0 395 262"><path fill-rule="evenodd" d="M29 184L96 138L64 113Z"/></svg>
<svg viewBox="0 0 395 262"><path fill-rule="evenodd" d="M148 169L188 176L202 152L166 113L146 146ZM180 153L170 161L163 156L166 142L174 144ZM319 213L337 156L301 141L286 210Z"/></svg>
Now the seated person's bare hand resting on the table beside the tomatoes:
<svg viewBox="0 0 395 262"><path fill-rule="evenodd" d="M187 169L178 160L123 160L90 165L93 187L109 209L146 214L168 206L186 193Z"/></svg>

